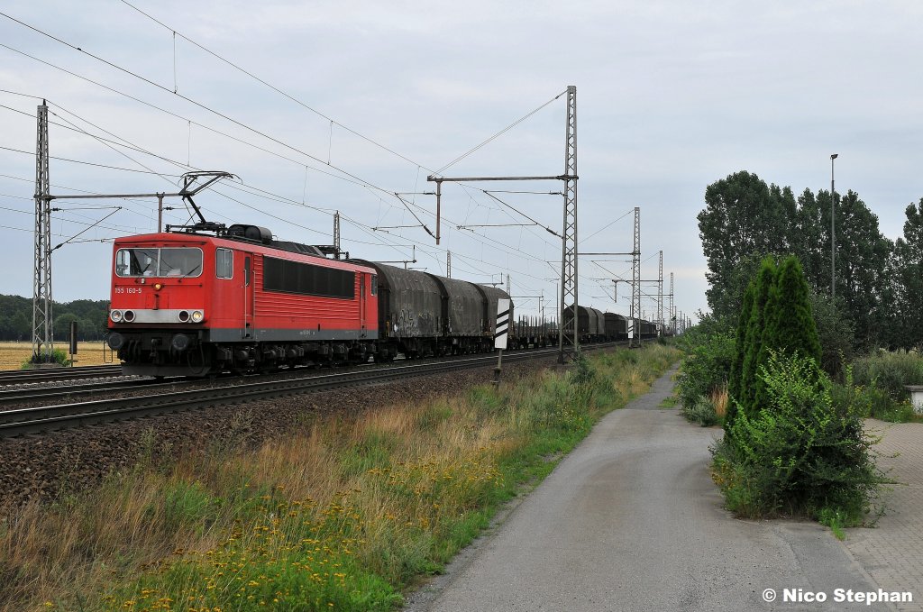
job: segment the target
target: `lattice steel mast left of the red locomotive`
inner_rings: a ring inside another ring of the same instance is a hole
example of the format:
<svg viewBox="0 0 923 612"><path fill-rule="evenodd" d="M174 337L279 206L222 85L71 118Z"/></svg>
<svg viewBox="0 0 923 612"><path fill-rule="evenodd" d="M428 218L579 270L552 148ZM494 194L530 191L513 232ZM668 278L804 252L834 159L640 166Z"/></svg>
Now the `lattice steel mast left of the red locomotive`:
<svg viewBox="0 0 923 612"><path fill-rule="evenodd" d="M48 106L38 111L35 145L35 267L32 270L32 360L51 362L54 354L52 319L51 181L48 177Z"/></svg>

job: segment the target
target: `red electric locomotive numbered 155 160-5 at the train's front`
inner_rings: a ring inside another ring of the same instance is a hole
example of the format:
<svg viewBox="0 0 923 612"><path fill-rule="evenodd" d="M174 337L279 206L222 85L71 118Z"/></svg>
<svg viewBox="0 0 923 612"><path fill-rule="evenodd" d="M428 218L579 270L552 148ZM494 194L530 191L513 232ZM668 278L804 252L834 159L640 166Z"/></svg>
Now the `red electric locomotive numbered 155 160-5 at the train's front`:
<svg viewBox="0 0 923 612"><path fill-rule="evenodd" d="M255 225L119 238L108 343L155 377L364 362L377 293L375 269Z"/></svg>

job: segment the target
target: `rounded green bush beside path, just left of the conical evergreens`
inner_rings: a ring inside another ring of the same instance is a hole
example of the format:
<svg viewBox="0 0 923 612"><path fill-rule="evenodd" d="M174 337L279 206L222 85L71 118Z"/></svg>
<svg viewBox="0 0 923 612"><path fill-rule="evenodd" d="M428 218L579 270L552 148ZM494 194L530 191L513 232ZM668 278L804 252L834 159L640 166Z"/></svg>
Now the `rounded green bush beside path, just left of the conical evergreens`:
<svg viewBox="0 0 923 612"><path fill-rule="evenodd" d="M686 358L677 378L679 401L693 409L699 399L710 397L727 384L727 373L734 359L734 335L716 332L701 338L687 349Z"/></svg>

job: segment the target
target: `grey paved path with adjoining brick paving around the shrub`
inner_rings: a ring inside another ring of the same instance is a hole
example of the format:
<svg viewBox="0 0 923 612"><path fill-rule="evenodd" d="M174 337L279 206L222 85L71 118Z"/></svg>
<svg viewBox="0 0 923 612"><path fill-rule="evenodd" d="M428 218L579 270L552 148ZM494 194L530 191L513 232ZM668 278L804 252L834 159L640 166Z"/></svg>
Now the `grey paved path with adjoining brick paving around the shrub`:
<svg viewBox="0 0 923 612"><path fill-rule="evenodd" d="M722 431L689 425L677 409L660 407L672 392L674 371L600 421L492 534L414 594L406 609L919 609L918 603L833 602L834 589L877 592L880 586L923 598L920 515L902 508L913 499L895 495L893 519L882 519L878 530L848 530L846 544L815 522L733 518L708 471L708 447ZM917 483L919 457L896 460L917 462ZM887 521L907 546L906 563L889 552L897 545L877 535L891 537ZM850 554L859 545L869 558ZM876 583L881 572L895 582ZM828 600L785 603L785 588L825 592ZM766 589L777 594L774 602L764 600Z"/></svg>

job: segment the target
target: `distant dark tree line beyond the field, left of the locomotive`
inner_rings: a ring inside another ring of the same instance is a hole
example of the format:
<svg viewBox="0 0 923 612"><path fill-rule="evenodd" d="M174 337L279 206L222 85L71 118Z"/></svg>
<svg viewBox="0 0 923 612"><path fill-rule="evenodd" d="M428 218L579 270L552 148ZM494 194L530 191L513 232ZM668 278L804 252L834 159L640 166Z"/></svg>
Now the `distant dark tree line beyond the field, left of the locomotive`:
<svg viewBox="0 0 923 612"><path fill-rule="evenodd" d="M78 340L102 340L109 317L108 300L75 300L66 304L54 302L54 339L66 342L70 338L70 323L77 321ZM19 295L0 294L0 340L31 342L32 300Z"/></svg>

